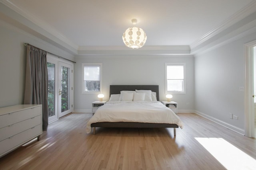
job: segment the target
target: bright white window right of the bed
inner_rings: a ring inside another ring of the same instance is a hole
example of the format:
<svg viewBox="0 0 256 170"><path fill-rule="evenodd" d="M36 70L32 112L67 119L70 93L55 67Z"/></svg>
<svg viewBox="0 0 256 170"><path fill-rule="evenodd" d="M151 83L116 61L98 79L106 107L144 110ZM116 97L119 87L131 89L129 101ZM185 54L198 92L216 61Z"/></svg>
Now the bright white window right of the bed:
<svg viewBox="0 0 256 170"><path fill-rule="evenodd" d="M186 94L186 64L165 63L165 93Z"/></svg>

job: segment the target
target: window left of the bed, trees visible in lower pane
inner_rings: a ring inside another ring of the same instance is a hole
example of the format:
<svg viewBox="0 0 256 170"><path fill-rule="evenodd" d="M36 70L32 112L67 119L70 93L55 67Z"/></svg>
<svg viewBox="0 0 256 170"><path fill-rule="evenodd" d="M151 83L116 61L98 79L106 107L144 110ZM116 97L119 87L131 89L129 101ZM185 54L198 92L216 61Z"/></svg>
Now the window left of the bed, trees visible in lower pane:
<svg viewBox="0 0 256 170"><path fill-rule="evenodd" d="M102 63L82 63L82 94L102 92Z"/></svg>

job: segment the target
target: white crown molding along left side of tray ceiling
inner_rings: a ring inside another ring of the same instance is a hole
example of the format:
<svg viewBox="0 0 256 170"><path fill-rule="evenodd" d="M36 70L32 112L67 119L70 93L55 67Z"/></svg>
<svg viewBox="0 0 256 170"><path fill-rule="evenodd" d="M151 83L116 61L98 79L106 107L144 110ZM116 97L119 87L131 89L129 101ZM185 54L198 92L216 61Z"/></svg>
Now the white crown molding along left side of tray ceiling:
<svg viewBox="0 0 256 170"><path fill-rule="evenodd" d="M14 12L19 14L23 18L25 18L26 20L28 20L30 23L28 23L28 21L26 22L24 20L20 20L20 17L17 16L16 14L14 14L14 12L8 11L6 13L8 13L8 16L10 18L12 18L12 19L24 24L24 25L34 24L34 25L36 25L37 27L40 28L40 29L36 29L36 27L31 28L34 31L48 37L52 41L58 42L59 44L64 44L63 46L67 46L67 45L70 46L69 49L72 49L71 51L77 51L78 45L76 45L75 43L70 41L65 35L59 33L54 27L52 27L48 23L46 23L46 22L40 20L39 18L37 18L36 16L22 10L21 8L19 8L18 6L16 6L12 2L10 2L9 0L0 0L0 2L2 4L4 4L4 6L10 8Z"/></svg>

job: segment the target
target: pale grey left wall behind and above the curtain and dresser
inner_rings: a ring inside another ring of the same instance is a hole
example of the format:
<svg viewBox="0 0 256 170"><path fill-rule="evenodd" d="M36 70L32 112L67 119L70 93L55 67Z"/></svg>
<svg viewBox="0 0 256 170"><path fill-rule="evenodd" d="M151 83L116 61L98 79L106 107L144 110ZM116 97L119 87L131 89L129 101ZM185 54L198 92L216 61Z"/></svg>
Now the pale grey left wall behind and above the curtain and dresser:
<svg viewBox="0 0 256 170"><path fill-rule="evenodd" d="M0 20L0 107L23 104L26 47L36 47L74 60L74 56Z"/></svg>

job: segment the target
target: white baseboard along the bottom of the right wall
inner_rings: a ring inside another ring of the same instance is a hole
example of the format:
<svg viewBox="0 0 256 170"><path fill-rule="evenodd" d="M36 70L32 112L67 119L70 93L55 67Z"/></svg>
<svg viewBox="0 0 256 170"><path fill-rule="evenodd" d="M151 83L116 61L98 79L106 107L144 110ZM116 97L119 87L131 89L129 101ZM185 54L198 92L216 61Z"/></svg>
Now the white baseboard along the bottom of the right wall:
<svg viewBox="0 0 256 170"><path fill-rule="evenodd" d="M200 115L200 116L202 116L202 117L205 117L206 119L209 119L209 120L211 120L211 121L214 121L215 123L218 123L218 124L220 124L220 125L222 125L222 126L228 128L228 129L231 129L231 130L233 130L233 131L235 131L235 132L237 132L237 133L240 133L241 135L245 135L244 129L241 129L241 128L236 127L236 126L234 126L234 125L230 125L229 123L226 123L226 122L224 122L224 121L221 121L221 120L219 120L219 119L216 119L216 118L214 118L214 117L212 117L212 116L206 115L206 114L204 114L204 113L202 113L202 112L200 112L200 111L197 111L197 110L195 110L194 113L196 113L196 114L198 114L198 115Z"/></svg>

